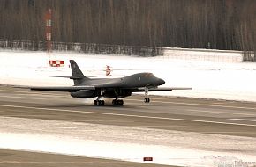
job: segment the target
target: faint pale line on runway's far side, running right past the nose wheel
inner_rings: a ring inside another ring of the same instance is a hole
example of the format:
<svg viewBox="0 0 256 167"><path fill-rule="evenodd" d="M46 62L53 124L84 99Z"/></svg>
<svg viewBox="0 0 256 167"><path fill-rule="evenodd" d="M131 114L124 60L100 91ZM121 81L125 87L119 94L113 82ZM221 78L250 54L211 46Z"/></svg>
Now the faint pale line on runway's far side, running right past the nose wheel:
<svg viewBox="0 0 256 167"><path fill-rule="evenodd" d="M138 101L137 99L126 99L129 101ZM154 98L153 98L154 100ZM247 110L255 110L256 111L256 107L252 108L252 107L245 107L245 106L228 106L228 105L207 105L207 104L198 104L198 103L182 103L182 102L170 102L170 101L156 101L154 100L154 102L158 102L158 103L166 103L166 104L177 104L177 105L199 105L199 106L213 106L213 107L223 107L223 108L239 108L239 109L247 109Z"/></svg>

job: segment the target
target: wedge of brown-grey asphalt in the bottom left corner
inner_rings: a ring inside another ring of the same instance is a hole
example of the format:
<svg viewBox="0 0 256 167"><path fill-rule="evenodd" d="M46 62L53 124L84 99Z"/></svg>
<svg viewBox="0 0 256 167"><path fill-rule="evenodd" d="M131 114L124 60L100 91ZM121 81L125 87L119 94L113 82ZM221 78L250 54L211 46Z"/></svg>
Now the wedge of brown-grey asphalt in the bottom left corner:
<svg viewBox="0 0 256 167"><path fill-rule="evenodd" d="M127 166L127 167L164 167L167 165L149 163L131 163L100 158L87 158L80 156L64 156L56 154L34 153L19 150L0 150L0 167L33 166L33 167L105 167L105 166Z"/></svg>

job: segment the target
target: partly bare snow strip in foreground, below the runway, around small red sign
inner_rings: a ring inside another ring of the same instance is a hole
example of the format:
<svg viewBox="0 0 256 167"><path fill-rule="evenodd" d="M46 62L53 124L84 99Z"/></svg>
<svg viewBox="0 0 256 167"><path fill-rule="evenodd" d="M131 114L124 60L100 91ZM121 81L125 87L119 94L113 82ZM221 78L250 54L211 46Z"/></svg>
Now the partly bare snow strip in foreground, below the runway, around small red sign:
<svg viewBox="0 0 256 167"><path fill-rule="evenodd" d="M149 163L217 167L256 159L256 140L251 137L11 117L0 117L0 135L2 149L139 163L153 157Z"/></svg>

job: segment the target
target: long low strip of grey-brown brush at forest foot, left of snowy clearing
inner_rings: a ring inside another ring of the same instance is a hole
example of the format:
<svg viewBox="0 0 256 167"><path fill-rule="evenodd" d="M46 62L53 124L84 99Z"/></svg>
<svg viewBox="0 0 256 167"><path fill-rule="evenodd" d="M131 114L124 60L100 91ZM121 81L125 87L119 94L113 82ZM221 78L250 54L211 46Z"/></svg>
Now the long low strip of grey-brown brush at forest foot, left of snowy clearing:
<svg viewBox="0 0 256 167"><path fill-rule="evenodd" d="M29 40L0 40L0 47L5 49L46 51L46 42ZM52 42L52 49L57 51L75 51L92 54L126 54L139 56L162 55L162 47L121 46L94 43Z"/></svg>

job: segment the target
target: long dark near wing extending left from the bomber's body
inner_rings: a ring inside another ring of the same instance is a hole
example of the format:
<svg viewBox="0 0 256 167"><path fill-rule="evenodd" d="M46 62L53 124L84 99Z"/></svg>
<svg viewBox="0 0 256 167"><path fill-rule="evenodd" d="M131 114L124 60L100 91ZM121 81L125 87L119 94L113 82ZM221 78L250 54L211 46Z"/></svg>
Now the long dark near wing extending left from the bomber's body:
<svg viewBox="0 0 256 167"><path fill-rule="evenodd" d="M94 86L36 86L30 87L32 91L80 91L80 90L95 90Z"/></svg>

